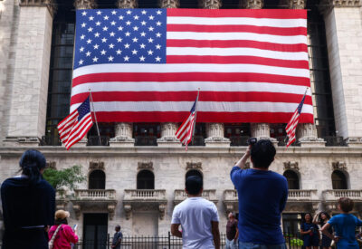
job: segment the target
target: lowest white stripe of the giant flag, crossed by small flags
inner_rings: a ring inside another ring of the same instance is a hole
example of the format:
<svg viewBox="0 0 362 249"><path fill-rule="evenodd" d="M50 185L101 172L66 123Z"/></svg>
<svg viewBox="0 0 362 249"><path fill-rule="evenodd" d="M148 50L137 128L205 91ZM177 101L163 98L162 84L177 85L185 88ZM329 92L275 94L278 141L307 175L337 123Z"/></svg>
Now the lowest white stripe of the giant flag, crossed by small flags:
<svg viewBox="0 0 362 249"><path fill-rule="evenodd" d="M112 101L94 102L96 111L190 111L194 101ZM71 110L78 108L79 104L71 105ZM212 112L294 112L296 103L285 102L217 102L198 101L197 111ZM303 106L303 113L313 113L311 105Z"/></svg>

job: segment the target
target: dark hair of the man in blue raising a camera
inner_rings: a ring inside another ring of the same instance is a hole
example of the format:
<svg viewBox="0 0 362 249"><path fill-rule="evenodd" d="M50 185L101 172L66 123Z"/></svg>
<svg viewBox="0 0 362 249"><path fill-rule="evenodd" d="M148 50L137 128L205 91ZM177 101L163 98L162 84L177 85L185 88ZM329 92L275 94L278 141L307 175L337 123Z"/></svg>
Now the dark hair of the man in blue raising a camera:
<svg viewBox="0 0 362 249"><path fill-rule="evenodd" d="M251 157L254 168L269 168L276 150L271 140L261 139L252 146Z"/></svg>

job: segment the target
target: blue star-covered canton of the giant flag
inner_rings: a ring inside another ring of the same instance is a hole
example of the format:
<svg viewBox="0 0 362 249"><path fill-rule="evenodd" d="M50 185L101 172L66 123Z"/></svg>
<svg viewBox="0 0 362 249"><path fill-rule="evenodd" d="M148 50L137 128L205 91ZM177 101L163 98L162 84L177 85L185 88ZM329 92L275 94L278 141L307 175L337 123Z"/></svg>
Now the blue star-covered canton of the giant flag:
<svg viewBox="0 0 362 249"><path fill-rule="evenodd" d="M166 9L77 10L74 69L100 63L166 63Z"/></svg>

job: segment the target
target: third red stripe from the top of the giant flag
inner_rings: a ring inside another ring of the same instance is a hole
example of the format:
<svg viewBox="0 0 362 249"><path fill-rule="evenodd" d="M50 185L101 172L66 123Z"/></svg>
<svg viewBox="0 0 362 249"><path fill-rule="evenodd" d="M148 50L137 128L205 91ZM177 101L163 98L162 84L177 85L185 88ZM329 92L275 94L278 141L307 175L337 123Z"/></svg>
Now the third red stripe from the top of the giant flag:
<svg viewBox="0 0 362 249"><path fill-rule="evenodd" d="M167 47L195 47L195 48L256 48L280 52L307 52L307 44L280 44L249 40L173 40L167 39Z"/></svg>

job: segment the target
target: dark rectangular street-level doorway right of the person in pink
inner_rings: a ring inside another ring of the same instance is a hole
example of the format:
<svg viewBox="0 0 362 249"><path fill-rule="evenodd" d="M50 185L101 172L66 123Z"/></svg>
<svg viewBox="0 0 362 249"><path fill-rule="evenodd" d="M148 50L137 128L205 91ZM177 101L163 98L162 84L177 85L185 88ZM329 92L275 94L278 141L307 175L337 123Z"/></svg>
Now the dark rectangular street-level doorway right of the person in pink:
<svg viewBox="0 0 362 249"><path fill-rule="evenodd" d="M84 214L83 227L82 248L107 248L108 214Z"/></svg>

